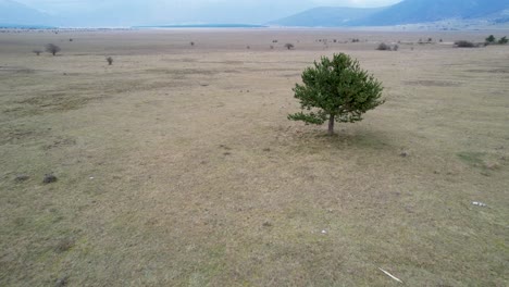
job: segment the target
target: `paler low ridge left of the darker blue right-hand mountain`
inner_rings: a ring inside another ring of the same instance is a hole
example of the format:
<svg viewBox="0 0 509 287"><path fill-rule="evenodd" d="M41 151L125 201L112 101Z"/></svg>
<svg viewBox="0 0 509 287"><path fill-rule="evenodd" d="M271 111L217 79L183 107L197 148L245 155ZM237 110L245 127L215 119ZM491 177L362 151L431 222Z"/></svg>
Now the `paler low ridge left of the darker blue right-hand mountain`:
<svg viewBox="0 0 509 287"><path fill-rule="evenodd" d="M301 26L301 27L337 27L345 26L352 21L367 18L385 8L337 8L319 7L301 13L272 21L269 25L277 26Z"/></svg>

